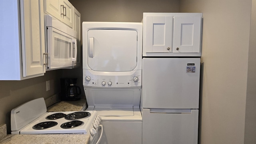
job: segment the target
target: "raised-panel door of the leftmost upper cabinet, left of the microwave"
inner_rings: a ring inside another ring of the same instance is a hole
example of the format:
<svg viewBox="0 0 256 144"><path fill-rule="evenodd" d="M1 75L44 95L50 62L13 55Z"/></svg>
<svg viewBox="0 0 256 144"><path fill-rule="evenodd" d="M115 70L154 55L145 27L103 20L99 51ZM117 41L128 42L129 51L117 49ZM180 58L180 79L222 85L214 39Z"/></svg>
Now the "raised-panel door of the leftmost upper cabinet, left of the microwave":
<svg viewBox="0 0 256 144"><path fill-rule="evenodd" d="M43 64L44 11L42 0L21 0L23 77L45 73Z"/></svg>

